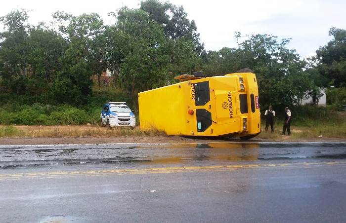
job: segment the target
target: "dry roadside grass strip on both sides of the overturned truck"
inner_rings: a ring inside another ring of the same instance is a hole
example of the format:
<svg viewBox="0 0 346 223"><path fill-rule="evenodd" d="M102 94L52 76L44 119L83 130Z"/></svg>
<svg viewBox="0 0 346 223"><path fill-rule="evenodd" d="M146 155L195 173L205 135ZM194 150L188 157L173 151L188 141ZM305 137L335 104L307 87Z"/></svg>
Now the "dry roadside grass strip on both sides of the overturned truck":
<svg viewBox="0 0 346 223"><path fill-rule="evenodd" d="M282 136L282 125L276 125L274 133L262 131L257 138L273 141L346 138L346 123L339 125L317 125L314 127L291 126L291 136ZM263 128L263 125L262 125ZM151 128L141 130L138 126L107 129L97 125L59 126L2 126L0 138L61 138L61 137L118 137L118 136L166 136L164 131Z"/></svg>

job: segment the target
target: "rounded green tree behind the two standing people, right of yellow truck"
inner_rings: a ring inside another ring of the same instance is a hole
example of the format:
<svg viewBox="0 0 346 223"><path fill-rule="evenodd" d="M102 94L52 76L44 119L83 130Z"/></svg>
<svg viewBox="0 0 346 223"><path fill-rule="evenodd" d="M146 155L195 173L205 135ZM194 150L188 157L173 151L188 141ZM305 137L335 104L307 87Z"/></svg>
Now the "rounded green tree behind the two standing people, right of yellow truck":
<svg viewBox="0 0 346 223"><path fill-rule="evenodd" d="M241 64L257 74L259 94L263 106L298 104L306 97L312 82L304 72L306 62L295 50L287 48L290 39L277 41L272 35L252 35L240 43L245 57Z"/></svg>

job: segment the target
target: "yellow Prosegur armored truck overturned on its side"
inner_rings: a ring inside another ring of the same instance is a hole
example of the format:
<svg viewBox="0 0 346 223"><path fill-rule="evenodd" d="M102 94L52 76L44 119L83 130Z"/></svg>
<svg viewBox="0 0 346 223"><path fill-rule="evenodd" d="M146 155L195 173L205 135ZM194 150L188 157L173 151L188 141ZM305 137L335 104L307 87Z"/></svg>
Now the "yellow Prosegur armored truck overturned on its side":
<svg viewBox="0 0 346 223"><path fill-rule="evenodd" d="M181 82L138 93L141 129L241 139L260 133L258 85L250 69L223 76L197 72L175 78Z"/></svg>

